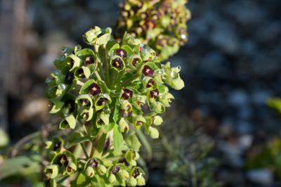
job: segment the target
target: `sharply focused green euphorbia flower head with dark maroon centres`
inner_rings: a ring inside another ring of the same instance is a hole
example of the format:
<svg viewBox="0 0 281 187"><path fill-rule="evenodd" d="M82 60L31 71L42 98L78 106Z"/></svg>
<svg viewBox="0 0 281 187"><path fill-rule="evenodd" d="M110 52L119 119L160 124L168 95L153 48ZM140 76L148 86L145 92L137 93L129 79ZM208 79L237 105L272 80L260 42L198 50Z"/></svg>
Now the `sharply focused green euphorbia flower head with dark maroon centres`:
<svg viewBox="0 0 281 187"><path fill-rule="evenodd" d="M47 183L145 185L135 132L158 138L159 114L174 98L168 86L184 86L180 68L159 63L155 51L131 34L117 42L110 28L94 27L84 41L89 48L63 48L46 80L51 113L61 117L59 129L67 129L46 142Z"/></svg>

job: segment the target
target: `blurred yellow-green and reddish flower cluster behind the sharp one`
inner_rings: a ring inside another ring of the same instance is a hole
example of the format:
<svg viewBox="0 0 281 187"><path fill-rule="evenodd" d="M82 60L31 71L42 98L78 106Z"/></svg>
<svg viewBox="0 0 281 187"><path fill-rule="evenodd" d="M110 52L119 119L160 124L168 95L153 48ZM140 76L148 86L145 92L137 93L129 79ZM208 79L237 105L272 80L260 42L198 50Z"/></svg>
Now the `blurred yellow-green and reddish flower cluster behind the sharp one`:
<svg viewBox="0 0 281 187"><path fill-rule="evenodd" d="M126 0L117 23L120 37L129 32L164 60L188 41L186 22L191 14L187 0Z"/></svg>

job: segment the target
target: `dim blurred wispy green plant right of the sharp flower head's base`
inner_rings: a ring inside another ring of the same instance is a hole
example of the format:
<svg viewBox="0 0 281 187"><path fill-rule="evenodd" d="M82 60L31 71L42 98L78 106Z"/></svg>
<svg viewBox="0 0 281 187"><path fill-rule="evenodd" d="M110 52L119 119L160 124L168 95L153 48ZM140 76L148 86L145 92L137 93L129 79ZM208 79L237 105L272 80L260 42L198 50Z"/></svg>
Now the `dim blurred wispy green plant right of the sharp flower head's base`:
<svg viewBox="0 0 281 187"><path fill-rule="evenodd" d="M164 116L162 136L153 143L152 167L164 170L163 186L221 186L214 180L218 161L210 157L214 141L181 110Z"/></svg>

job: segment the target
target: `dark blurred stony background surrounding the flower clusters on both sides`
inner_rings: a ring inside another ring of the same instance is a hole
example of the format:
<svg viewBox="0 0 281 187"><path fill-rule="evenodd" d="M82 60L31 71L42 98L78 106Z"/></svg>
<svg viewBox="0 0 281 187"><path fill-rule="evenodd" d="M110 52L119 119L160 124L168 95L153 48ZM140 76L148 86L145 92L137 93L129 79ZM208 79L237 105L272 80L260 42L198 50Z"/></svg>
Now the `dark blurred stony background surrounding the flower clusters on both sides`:
<svg viewBox="0 0 281 187"><path fill-rule="evenodd" d="M0 1L0 127L10 146L50 122L44 82L61 47L83 44L93 25L114 27L120 2ZM150 142L148 186L281 186L281 120L266 105L281 96L281 1L187 6L190 39L169 59L185 89Z"/></svg>

